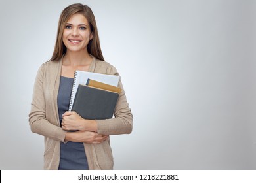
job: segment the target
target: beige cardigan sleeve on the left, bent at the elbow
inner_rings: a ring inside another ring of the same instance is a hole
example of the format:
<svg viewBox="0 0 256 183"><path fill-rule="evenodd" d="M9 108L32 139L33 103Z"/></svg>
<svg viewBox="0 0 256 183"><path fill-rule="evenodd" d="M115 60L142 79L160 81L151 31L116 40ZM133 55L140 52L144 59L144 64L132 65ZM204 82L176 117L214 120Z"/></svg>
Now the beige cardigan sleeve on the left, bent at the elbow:
<svg viewBox="0 0 256 183"><path fill-rule="evenodd" d="M33 98L31 103L31 110L29 114L29 124L31 131L45 137L49 137L56 141L64 142L66 131L58 125L55 125L46 118L46 101L45 101L45 69L41 65L37 71L35 84L33 88ZM50 89L48 89L50 90Z"/></svg>

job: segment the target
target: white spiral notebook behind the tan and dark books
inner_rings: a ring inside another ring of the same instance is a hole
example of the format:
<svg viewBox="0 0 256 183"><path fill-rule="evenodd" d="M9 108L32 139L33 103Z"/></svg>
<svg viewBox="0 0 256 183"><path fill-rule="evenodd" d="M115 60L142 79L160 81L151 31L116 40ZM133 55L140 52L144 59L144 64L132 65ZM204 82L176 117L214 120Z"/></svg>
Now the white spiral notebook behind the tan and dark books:
<svg viewBox="0 0 256 183"><path fill-rule="evenodd" d="M103 82L105 84L110 84L112 86L118 86L118 82L120 80L120 76L116 75L106 75L100 73L91 73L87 71L75 71L74 74L74 82L72 86L72 93L70 97L70 106L68 108L69 111L72 110L72 106L75 99L75 94L77 92L77 88L79 84L86 84L88 79L96 80L98 82Z"/></svg>

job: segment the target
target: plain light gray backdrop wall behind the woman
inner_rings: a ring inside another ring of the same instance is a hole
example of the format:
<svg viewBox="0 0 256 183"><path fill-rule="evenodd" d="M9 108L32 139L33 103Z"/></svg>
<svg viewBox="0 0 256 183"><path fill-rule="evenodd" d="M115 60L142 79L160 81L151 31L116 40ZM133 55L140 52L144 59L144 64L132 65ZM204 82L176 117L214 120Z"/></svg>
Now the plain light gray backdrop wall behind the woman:
<svg viewBox="0 0 256 183"><path fill-rule="evenodd" d="M42 169L30 131L33 82L60 12L95 13L102 52L134 114L111 137L115 169L256 169L255 1L0 2L0 169Z"/></svg>

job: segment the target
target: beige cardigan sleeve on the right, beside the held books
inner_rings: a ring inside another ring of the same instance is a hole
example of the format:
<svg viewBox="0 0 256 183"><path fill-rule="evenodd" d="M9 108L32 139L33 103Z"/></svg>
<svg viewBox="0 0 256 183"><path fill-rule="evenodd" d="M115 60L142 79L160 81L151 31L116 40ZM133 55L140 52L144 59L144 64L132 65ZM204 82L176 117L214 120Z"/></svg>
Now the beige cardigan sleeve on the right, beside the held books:
<svg viewBox="0 0 256 183"><path fill-rule="evenodd" d="M119 75L115 67L110 69L111 75ZM121 88L121 93L117 100L116 108L114 110L115 118L106 120L96 120L98 124L98 133L104 135L119 135L129 134L133 129L133 114L129 108L123 84L119 80L118 87Z"/></svg>

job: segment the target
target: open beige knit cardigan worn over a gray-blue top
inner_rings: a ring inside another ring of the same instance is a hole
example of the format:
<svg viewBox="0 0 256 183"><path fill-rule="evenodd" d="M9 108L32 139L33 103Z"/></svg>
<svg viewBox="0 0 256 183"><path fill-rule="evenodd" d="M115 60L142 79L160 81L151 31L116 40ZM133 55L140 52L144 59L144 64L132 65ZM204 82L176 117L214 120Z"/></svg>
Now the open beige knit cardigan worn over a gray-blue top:
<svg viewBox="0 0 256 183"><path fill-rule="evenodd" d="M60 127L58 119L57 95L60 85L60 61L47 61L37 72L33 89L33 99L29 114L30 127L33 133L45 136L44 169L58 169L60 163L60 142L64 142L66 131ZM90 72L119 75L115 67L106 61L93 58ZM133 115L127 103L121 81L118 84L122 92L114 112L115 118L96 120L98 133L118 135L131 133ZM89 169L113 169L113 156L110 141L101 144L84 143Z"/></svg>

